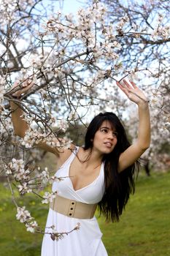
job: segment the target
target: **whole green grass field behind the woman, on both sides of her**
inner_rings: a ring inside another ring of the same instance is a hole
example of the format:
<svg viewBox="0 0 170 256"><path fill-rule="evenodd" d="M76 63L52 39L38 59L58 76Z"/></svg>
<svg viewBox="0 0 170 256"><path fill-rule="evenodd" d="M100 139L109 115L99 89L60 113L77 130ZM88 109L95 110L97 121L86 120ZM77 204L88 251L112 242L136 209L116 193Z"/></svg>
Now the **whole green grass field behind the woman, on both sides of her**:
<svg viewBox="0 0 170 256"><path fill-rule="evenodd" d="M15 219L15 206L3 184L0 193L0 255L39 256L42 235L26 232ZM44 227L47 206L31 196L25 201ZM109 256L170 256L170 173L139 176L120 222L107 224L103 217L98 222Z"/></svg>

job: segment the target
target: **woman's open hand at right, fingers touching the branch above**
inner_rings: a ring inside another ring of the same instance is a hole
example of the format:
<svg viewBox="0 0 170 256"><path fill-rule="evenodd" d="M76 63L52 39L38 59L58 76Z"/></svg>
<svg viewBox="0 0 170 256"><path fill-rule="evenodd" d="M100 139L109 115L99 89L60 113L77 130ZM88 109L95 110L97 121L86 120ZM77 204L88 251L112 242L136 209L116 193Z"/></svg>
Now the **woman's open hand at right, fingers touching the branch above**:
<svg viewBox="0 0 170 256"><path fill-rule="evenodd" d="M142 90L140 90L134 82L127 82L123 79L123 83L116 82L117 86L127 95L128 99L135 102L137 105L148 102Z"/></svg>

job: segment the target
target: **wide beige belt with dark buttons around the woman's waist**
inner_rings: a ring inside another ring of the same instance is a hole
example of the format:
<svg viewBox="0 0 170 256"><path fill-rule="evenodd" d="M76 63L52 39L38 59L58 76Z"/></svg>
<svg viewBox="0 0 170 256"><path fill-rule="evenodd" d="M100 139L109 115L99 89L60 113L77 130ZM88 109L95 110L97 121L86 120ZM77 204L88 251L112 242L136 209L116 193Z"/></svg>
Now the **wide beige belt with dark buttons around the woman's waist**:
<svg viewBox="0 0 170 256"><path fill-rule="evenodd" d="M75 200L70 200L65 197L56 195L53 202L50 203L50 208L57 211L59 214L77 219L91 219L97 208L97 203L88 204L80 203Z"/></svg>

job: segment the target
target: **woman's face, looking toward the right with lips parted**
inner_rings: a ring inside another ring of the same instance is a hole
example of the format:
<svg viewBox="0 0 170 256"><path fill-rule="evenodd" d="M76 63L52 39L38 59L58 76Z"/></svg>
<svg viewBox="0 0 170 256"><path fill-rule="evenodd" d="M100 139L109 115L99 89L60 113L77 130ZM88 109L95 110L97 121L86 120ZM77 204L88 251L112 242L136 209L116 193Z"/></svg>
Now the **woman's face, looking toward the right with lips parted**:
<svg viewBox="0 0 170 256"><path fill-rule="evenodd" d="M109 154L115 148L117 143L117 132L109 123L104 121L99 127L93 138L93 149L101 154Z"/></svg>

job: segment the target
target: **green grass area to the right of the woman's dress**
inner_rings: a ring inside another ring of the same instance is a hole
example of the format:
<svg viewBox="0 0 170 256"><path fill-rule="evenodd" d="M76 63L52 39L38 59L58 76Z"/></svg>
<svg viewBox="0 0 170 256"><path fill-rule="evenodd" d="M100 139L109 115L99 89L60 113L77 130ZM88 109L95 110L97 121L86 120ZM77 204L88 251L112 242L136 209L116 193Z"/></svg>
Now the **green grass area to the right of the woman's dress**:
<svg viewBox="0 0 170 256"><path fill-rule="evenodd" d="M170 255L170 173L139 177L120 222L99 223L109 256Z"/></svg>

